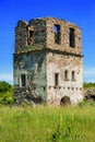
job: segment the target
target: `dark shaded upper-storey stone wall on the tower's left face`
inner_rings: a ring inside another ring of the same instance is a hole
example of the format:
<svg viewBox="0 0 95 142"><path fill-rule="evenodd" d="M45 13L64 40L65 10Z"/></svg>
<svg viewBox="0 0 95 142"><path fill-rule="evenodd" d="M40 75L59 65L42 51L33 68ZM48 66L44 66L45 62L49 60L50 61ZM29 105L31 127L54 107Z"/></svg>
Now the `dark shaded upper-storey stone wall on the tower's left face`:
<svg viewBox="0 0 95 142"><path fill-rule="evenodd" d="M29 39L29 32L33 32L32 39ZM15 52L45 48L47 40L46 32L46 20L31 20L28 23L19 21L15 27Z"/></svg>

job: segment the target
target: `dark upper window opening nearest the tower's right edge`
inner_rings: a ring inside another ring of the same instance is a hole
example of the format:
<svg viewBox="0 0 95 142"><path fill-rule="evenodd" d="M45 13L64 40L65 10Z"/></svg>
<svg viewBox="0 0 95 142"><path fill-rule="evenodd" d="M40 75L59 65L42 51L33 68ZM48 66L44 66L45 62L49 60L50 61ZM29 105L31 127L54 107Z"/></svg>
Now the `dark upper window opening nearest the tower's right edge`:
<svg viewBox="0 0 95 142"><path fill-rule="evenodd" d="M70 47L75 47L75 34L74 28L69 28L69 40L70 40Z"/></svg>

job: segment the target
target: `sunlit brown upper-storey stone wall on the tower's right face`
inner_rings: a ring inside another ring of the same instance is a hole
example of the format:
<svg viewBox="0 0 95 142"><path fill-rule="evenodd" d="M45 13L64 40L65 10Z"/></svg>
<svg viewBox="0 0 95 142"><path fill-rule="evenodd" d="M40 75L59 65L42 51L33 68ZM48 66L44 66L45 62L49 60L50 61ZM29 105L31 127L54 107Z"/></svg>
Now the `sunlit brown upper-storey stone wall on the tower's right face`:
<svg viewBox="0 0 95 142"><path fill-rule="evenodd" d="M55 25L60 25L60 44L55 44ZM75 47L69 46L69 28L75 29ZM47 20L47 47L51 49L58 49L60 51L73 52L81 55L81 29L63 20L48 19Z"/></svg>

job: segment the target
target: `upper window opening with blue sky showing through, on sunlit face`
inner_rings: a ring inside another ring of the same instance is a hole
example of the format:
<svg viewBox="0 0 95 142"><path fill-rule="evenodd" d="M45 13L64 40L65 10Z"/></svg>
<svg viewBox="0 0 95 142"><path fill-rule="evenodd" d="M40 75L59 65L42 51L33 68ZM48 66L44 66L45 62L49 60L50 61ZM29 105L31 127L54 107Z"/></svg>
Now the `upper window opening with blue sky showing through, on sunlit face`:
<svg viewBox="0 0 95 142"><path fill-rule="evenodd" d="M60 44L60 25L55 25L54 31L55 31L55 43Z"/></svg>

